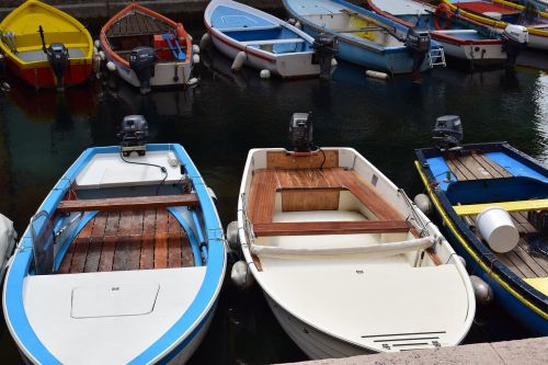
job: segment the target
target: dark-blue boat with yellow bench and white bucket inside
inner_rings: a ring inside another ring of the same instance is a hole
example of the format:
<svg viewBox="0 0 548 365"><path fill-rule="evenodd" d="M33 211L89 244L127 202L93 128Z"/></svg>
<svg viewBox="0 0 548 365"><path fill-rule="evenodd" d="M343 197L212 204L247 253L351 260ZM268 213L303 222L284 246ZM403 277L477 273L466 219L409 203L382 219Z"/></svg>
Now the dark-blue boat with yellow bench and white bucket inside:
<svg viewBox="0 0 548 365"><path fill-rule="evenodd" d="M506 142L415 155L434 210L469 273L488 283L510 316L547 335L547 169Z"/></svg>

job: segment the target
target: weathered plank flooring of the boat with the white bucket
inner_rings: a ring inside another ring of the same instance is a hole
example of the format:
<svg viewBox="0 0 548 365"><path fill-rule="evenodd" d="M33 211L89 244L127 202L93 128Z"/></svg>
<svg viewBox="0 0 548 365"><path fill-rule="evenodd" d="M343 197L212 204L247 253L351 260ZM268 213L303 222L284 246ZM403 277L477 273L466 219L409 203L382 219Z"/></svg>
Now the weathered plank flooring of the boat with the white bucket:
<svg viewBox="0 0 548 365"><path fill-rule="evenodd" d="M513 176L506 169L482 153L467 156L446 156L445 161L458 181L478 179L499 179ZM517 247L506 253L496 253L499 260L504 262L516 275L534 278L548 276L548 258L537 252L534 244L527 241L528 233L536 233L537 229L528 221L526 212L510 214L520 231ZM476 216L468 216L476 221ZM481 239L478 232L477 236Z"/></svg>

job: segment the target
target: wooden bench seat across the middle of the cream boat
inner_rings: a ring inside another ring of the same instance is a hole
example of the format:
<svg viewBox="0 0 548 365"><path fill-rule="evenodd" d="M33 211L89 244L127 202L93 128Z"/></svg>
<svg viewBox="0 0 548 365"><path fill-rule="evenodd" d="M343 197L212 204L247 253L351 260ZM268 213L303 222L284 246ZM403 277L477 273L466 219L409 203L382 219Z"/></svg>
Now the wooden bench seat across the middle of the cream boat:
<svg viewBox="0 0 548 365"><path fill-rule="evenodd" d="M406 220L290 221L253 225L256 237L407 232Z"/></svg>

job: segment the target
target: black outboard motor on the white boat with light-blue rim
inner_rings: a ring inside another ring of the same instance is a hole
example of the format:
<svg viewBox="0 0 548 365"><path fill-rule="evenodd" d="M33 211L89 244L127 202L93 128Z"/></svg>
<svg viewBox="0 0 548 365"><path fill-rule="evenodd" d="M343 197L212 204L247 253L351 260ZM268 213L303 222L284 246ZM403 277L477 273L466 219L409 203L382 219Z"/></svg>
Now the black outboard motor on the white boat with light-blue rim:
<svg viewBox="0 0 548 365"><path fill-rule="evenodd" d="M146 153L148 123L142 115L127 115L122 121L122 130L117 134L122 139L119 149L123 156L136 151L139 156Z"/></svg>

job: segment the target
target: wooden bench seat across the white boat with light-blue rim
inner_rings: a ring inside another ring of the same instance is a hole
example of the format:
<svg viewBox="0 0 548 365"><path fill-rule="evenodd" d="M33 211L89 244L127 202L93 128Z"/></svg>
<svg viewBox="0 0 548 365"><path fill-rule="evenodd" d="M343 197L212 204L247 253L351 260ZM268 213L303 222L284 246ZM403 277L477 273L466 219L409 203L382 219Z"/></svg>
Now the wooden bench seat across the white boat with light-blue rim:
<svg viewBox="0 0 548 365"><path fill-rule="evenodd" d="M84 210L124 210L124 209L158 209L170 206L196 206L199 201L196 194L110 197L101 199L61 201L58 212Z"/></svg>

